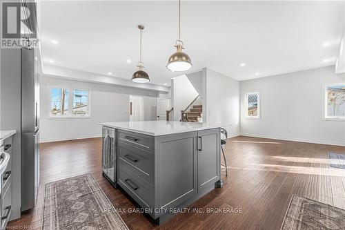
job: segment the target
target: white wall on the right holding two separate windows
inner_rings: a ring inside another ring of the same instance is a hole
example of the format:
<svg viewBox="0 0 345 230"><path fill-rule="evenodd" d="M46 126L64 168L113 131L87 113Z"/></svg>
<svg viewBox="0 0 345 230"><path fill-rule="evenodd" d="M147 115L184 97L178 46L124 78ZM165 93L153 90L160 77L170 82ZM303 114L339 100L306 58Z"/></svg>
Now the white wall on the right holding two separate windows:
<svg viewBox="0 0 345 230"><path fill-rule="evenodd" d="M334 66L241 82L241 133L302 142L345 144L345 122L323 120L324 85L345 82ZM244 94L259 91L261 118L244 119Z"/></svg>

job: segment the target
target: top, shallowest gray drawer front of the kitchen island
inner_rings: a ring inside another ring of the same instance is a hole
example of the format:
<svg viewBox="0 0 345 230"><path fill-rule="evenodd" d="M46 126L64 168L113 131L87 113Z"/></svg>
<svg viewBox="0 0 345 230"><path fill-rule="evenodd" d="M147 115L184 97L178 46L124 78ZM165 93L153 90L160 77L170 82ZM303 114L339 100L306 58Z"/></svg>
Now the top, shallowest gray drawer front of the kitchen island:
<svg viewBox="0 0 345 230"><path fill-rule="evenodd" d="M135 146L143 148L147 151L152 152L155 149L155 137L149 135L128 131L119 131L119 140L122 142L134 144Z"/></svg>

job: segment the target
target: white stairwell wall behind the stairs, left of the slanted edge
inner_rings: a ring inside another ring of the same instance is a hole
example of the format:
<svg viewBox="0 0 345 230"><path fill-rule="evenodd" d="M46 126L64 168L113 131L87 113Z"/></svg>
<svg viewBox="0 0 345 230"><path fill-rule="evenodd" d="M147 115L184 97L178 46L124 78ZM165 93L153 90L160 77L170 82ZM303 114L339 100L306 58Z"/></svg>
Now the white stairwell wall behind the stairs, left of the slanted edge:
<svg viewBox="0 0 345 230"><path fill-rule="evenodd" d="M190 83L186 75L172 78L171 81L171 98L172 107L174 107L174 120L181 119L181 111L183 111L193 99L197 97L197 90Z"/></svg>

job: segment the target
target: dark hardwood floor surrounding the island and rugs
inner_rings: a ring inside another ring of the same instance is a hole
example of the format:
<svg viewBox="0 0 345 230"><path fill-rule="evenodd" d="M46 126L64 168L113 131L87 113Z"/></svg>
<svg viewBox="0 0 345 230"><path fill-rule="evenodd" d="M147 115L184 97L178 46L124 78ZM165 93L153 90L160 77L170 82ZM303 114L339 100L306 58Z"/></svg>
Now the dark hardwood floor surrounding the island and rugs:
<svg viewBox="0 0 345 230"><path fill-rule="evenodd" d="M129 229L279 229L292 194L345 209L345 170L328 164L328 152L345 154L345 147L241 136L229 139L224 150L228 161L228 177L221 175L224 187L190 206L204 213L179 213L161 226L141 213L120 213ZM36 207L9 227L41 229L44 184L83 173L95 177L115 208L136 207L101 175L100 139L40 144L40 155ZM227 208L232 212L206 213Z"/></svg>

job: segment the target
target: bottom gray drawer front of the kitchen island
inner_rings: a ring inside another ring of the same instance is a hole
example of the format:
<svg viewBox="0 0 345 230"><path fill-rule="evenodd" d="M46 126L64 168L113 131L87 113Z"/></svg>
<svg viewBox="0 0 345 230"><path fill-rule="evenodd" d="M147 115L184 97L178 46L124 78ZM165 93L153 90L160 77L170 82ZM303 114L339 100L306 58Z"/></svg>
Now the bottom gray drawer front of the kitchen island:
<svg viewBox="0 0 345 230"><path fill-rule="evenodd" d="M118 164L118 184L142 207L152 207L153 204L153 186L138 175Z"/></svg>

